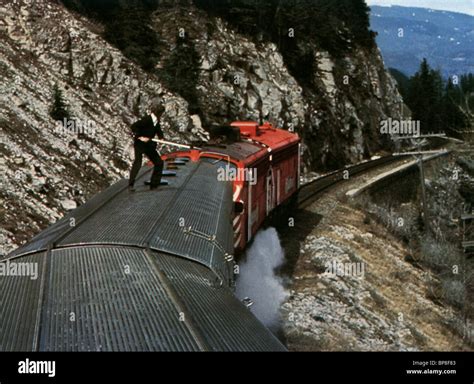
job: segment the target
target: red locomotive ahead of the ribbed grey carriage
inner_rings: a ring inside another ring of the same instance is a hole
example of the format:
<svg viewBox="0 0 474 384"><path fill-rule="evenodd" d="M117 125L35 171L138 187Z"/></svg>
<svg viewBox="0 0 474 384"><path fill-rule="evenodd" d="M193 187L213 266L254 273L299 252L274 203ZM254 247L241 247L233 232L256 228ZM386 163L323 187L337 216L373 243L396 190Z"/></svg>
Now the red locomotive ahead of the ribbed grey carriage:
<svg viewBox="0 0 474 384"><path fill-rule="evenodd" d="M230 131L237 137L231 143L208 144L163 158L227 161L223 177L233 181L234 248L238 252L276 207L295 196L300 179L300 138L270 123L237 121L231 124Z"/></svg>

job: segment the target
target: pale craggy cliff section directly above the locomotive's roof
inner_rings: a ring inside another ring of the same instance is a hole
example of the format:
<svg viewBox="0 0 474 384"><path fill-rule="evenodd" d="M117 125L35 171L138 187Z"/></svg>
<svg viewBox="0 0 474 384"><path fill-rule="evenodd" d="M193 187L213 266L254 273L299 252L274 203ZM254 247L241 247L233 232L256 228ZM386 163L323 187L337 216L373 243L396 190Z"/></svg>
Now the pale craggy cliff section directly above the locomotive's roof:
<svg viewBox="0 0 474 384"><path fill-rule="evenodd" d="M208 20L196 8L186 13L161 9L152 18L166 44L158 68L166 68L180 49L179 29L200 58L195 88L203 121L268 120L287 129L301 127L307 103L275 44L256 44L222 19Z"/></svg>

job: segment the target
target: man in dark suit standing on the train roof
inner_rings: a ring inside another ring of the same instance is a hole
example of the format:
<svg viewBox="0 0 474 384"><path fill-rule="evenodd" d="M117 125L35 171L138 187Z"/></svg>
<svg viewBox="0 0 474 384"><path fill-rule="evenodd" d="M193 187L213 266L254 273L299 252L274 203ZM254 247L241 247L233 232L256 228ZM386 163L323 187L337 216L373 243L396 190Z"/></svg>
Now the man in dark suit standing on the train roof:
<svg viewBox="0 0 474 384"><path fill-rule="evenodd" d="M159 99L151 102L147 115L132 124L133 149L135 160L130 170L128 189L134 192L135 179L140 171L143 161L143 154L153 163L153 174L151 175L150 189L156 189L160 185L161 175L163 173L163 160L160 153L157 152L157 143L153 141L155 135L163 139L163 131L160 127L160 118L165 111L164 106Z"/></svg>

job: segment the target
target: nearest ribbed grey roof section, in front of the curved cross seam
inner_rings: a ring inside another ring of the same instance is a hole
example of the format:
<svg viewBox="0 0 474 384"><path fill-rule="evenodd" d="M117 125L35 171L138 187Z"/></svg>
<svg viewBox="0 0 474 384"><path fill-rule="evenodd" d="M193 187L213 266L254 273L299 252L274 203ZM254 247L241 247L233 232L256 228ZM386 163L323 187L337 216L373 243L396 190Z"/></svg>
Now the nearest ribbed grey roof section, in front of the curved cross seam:
<svg viewBox="0 0 474 384"><path fill-rule="evenodd" d="M55 249L37 280L0 277L0 351L247 351L284 348L199 263L113 246Z"/></svg>

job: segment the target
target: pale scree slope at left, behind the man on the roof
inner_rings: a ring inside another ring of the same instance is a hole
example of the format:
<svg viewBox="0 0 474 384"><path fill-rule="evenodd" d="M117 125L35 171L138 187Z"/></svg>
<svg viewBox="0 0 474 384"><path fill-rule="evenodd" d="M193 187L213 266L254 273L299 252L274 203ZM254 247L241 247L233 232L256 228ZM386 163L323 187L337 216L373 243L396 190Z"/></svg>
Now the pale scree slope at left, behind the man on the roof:
<svg viewBox="0 0 474 384"><path fill-rule="evenodd" d="M151 98L166 101L169 139L206 138L183 98L94 31L55 1L0 5L0 253L126 177L128 125ZM75 127L49 116L55 84Z"/></svg>

